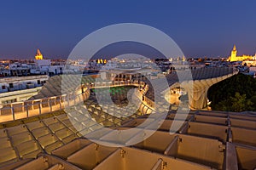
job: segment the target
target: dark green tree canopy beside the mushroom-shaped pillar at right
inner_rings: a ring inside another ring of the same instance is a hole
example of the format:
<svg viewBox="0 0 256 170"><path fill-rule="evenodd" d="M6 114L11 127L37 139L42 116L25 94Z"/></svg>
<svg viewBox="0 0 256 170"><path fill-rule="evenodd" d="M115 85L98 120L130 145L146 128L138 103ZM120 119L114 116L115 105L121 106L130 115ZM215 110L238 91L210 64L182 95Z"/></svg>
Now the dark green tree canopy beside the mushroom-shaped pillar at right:
<svg viewBox="0 0 256 170"><path fill-rule="evenodd" d="M212 85L208 99L215 111L256 111L256 79L238 74Z"/></svg>

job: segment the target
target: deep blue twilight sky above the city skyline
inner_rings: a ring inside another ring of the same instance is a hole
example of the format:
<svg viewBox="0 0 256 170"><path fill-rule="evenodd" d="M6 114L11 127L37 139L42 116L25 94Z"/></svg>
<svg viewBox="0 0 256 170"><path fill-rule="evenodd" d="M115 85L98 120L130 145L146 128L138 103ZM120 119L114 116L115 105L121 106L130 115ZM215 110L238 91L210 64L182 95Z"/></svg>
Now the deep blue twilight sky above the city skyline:
<svg viewBox="0 0 256 170"><path fill-rule="evenodd" d="M86 35L103 26L133 22L173 38L187 57L256 52L253 0L9 0L0 2L0 59L67 58Z"/></svg>

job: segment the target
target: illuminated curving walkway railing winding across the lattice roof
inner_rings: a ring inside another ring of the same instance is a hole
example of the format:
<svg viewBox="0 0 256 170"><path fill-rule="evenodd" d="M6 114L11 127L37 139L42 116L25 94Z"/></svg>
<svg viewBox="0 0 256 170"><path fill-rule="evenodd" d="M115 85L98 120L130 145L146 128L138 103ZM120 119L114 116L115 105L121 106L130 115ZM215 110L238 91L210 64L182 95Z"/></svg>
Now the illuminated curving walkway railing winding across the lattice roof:
<svg viewBox="0 0 256 170"><path fill-rule="evenodd" d="M89 99L91 88L108 88L108 87L120 87L120 86L137 86L144 85L145 82L138 81L114 81L114 82L96 82L82 84L76 90L69 94L62 94L59 96L48 97L43 99L26 100L24 102L15 102L11 104L4 104L0 108L0 122L15 121L20 118L27 118L30 116L38 116L49 113L51 111L60 111L64 108L77 105L80 102ZM85 90L80 90L84 88ZM81 91L82 93L78 92ZM148 99L145 94L148 92L148 88L145 90L138 89L138 97L144 103L150 107L154 107L154 101Z"/></svg>

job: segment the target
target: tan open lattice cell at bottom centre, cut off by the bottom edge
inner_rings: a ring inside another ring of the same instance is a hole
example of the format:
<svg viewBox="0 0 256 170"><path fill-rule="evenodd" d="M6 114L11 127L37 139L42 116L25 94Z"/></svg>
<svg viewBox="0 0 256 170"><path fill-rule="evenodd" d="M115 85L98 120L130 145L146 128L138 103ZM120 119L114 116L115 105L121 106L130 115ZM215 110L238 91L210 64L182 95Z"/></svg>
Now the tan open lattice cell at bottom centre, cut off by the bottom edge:
<svg viewBox="0 0 256 170"><path fill-rule="evenodd" d="M160 161L160 164L158 162ZM151 170L151 169L183 169L183 170L203 170L210 169L210 167L201 166L189 161L183 161L174 159L172 157L163 156L160 154L154 154L148 150L138 150L133 148L121 148L116 150L111 156L101 164L99 164L95 170Z"/></svg>

